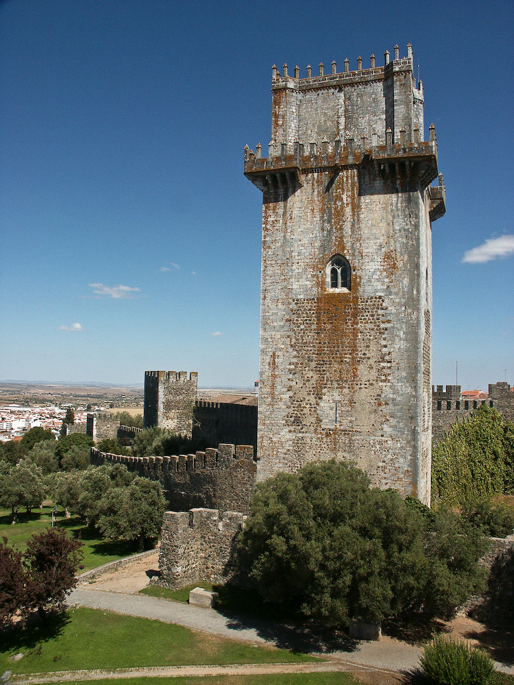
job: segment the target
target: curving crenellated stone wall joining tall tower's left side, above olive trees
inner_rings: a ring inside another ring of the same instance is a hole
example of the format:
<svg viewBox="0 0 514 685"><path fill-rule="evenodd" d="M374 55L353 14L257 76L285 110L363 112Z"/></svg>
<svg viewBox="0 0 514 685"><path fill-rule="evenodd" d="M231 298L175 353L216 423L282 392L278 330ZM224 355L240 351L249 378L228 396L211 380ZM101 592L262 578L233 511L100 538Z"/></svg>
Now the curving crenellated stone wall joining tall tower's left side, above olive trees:
<svg viewBox="0 0 514 685"><path fill-rule="evenodd" d="M219 445L180 456L128 457L91 449L90 461L121 463L129 471L160 482L173 510L196 507L249 511L256 486L251 445Z"/></svg>

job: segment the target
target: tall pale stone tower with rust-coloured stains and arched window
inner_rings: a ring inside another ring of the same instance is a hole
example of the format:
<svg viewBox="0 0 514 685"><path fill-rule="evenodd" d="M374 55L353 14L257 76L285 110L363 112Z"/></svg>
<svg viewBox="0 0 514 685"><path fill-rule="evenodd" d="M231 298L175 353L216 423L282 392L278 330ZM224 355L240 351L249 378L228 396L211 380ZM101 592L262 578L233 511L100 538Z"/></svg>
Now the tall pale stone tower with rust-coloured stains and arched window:
<svg viewBox="0 0 514 685"><path fill-rule="evenodd" d="M413 53L280 75L263 194L258 478L350 458L430 502L431 223L445 211Z"/></svg>

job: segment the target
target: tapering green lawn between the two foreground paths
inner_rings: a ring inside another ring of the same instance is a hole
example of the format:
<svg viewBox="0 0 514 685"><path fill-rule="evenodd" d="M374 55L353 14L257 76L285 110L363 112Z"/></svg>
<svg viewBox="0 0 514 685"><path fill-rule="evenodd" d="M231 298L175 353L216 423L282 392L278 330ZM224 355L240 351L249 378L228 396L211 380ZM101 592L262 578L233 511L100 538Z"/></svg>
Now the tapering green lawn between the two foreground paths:
<svg viewBox="0 0 514 685"><path fill-rule="evenodd" d="M0 673L315 660L285 649L195 633L180 625L86 608L60 614L46 626L34 622L0 637ZM12 662L10 657L19 652L23 659Z"/></svg>

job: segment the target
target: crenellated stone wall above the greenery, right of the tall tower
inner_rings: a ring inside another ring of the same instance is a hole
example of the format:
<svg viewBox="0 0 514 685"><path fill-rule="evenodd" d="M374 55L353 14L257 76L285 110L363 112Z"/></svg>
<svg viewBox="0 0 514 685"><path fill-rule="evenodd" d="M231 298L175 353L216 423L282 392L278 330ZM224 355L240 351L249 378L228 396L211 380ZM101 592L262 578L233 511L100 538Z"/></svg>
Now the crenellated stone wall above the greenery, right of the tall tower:
<svg viewBox="0 0 514 685"><path fill-rule="evenodd" d="M493 407L509 421L514 421L514 393L508 383L489 384L489 399L461 399L461 386L432 387L432 438L435 443L448 432L452 423L466 421L482 404Z"/></svg>

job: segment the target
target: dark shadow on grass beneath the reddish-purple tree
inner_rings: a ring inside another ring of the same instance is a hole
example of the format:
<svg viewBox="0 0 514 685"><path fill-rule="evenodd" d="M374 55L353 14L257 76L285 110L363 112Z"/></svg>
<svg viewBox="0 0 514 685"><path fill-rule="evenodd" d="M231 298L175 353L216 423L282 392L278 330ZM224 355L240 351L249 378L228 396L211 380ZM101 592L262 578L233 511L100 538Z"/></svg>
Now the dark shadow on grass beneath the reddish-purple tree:
<svg viewBox="0 0 514 685"><path fill-rule="evenodd" d="M42 623L37 614L29 616L25 625L16 623L0 631L0 642L3 651L23 652L25 655L37 651L42 643L60 636L64 627L70 622L66 611L49 612L47 621Z"/></svg>

